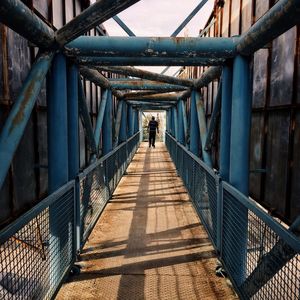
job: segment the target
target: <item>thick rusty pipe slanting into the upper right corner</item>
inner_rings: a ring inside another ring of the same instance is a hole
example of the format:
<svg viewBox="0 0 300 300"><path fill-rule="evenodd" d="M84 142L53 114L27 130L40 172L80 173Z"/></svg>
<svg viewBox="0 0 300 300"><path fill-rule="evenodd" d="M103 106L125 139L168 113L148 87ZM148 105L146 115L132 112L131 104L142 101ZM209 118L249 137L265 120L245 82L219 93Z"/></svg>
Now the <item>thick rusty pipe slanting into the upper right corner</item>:
<svg viewBox="0 0 300 300"><path fill-rule="evenodd" d="M300 24L300 1L279 0L240 38L237 50L250 55L296 24Z"/></svg>

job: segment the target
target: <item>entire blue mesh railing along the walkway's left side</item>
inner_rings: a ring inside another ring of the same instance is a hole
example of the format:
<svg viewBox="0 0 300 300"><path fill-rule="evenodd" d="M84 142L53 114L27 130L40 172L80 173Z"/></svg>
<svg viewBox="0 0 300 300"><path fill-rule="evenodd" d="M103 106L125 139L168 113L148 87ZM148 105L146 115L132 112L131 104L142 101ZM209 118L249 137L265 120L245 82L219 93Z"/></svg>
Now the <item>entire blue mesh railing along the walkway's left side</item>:
<svg viewBox="0 0 300 300"><path fill-rule="evenodd" d="M138 132L0 231L0 299L55 296L139 141Z"/></svg>

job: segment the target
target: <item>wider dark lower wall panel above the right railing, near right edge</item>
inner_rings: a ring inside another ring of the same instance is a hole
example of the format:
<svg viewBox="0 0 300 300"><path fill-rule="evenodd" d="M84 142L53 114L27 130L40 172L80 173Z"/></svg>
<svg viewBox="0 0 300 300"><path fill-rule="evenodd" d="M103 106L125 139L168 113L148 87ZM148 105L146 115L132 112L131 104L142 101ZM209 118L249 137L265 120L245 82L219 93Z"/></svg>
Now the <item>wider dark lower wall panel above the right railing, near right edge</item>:
<svg viewBox="0 0 300 300"><path fill-rule="evenodd" d="M286 181L290 116L286 112L269 115L265 203L281 216L286 209Z"/></svg>

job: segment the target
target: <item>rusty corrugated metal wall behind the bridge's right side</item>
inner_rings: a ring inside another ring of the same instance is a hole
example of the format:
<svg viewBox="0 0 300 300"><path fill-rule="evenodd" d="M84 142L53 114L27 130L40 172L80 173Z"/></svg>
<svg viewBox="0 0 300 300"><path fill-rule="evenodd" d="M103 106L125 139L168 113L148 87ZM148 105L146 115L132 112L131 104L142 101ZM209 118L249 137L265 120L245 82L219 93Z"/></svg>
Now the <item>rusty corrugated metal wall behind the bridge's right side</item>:
<svg viewBox="0 0 300 300"><path fill-rule="evenodd" d="M274 1L268 0L216 1L212 15L215 22L206 36L240 35L273 4ZM300 214L299 32L299 28L290 29L257 51L252 59L250 194L287 222L292 222ZM199 77L205 69L187 68L182 76ZM217 86L218 82L215 81L203 89L208 124ZM213 147L216 167L218 135L215 136ZM266 172L259 173L259 169L265 169Z"/></svg>

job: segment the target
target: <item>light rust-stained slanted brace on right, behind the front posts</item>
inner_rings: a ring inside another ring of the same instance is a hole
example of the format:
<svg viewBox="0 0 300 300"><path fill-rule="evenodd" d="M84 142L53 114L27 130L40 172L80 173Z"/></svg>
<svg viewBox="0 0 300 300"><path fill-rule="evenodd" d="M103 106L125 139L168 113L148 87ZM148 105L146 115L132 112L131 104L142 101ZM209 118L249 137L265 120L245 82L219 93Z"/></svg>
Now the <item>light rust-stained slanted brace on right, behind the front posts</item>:
<svg viewBox="0 0 300 300"><path fill-rule="evenodd" d="M212 167L211 156L205 150L205 141L206 141L206 136L207 136L207 130L206 130L204 102L203 102L201 94L197 91L195 92L195 99L196 99L196 107L197 107L198 124L199 124L199 129L200 129L202 158L203 158L203 161L209 167Z"/></svg>

